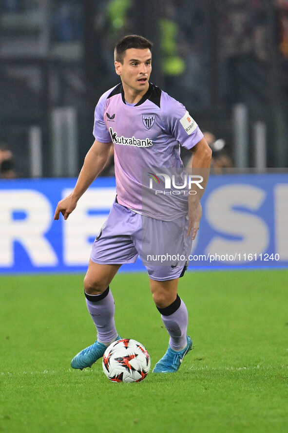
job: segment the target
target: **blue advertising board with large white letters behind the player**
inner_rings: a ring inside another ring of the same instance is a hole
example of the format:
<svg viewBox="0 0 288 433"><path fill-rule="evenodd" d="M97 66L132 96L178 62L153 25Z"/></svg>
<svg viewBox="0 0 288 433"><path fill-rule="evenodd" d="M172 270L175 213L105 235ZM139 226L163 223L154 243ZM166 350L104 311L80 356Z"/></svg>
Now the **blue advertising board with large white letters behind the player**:
<svg viewBox="0 0 288 433"><path fill-rule="evenodd" d="M0 180L0 273L85 272L115 200L115 179L96 179L70 217L54 221L75 183ZM211 175L201 202L192 268L288 266L288 174ZM121 269L145 270L140 259Z"/></svg>

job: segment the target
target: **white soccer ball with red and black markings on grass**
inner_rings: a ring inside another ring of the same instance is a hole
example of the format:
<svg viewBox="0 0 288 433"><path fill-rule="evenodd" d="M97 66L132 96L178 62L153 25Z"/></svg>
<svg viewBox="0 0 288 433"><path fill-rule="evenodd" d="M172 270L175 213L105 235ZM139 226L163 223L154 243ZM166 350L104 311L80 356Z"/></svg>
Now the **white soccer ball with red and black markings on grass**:
<svg viewBox="0 0 288 433"><path fill-rule="evenodd" d="M136 340L123 338L107 347L102 366L112 382L140 382L150 370L150 356Z"/></svg>

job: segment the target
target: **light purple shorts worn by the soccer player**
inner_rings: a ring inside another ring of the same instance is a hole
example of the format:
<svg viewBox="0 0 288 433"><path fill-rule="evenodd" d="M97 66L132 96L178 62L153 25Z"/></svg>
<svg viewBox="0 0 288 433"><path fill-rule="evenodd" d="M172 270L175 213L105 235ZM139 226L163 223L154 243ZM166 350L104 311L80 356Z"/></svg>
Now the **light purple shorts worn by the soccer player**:
<svg viewBox="0 0 288 433"><path fill-rule="evenodd" d="M99 264L124 264L134 263L140 256L152 280L174 280L184 275L192 248L187 225L186 216L162 221L115 202L93 243L90 258Z"/></svg>

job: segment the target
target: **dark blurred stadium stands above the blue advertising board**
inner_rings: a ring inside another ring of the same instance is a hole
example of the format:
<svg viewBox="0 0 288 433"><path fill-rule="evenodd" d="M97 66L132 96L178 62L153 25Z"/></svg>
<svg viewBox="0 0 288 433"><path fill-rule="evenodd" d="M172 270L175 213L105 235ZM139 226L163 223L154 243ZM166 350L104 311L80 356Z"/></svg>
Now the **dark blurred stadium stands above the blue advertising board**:
<svg viewBox="0 0 288 433"><path fill-rule="evenodd" d="M237 104L248 166L257 122L266 166L288 165L288 0L2 0L0 28L1 177L77 175L96 102L117 84L115 42L129 33L154 42L152 81L209 131L218 169L237 166ZM61 149L74 158L57 171Z"/></svg>

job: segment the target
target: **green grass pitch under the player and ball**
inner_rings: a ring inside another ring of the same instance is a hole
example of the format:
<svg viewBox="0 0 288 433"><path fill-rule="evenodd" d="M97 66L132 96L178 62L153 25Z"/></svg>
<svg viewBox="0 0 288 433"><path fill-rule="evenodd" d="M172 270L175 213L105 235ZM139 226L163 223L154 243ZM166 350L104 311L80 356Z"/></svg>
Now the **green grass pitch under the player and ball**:
<svg viewBox="0 0 288 433"><path fill-rule="evenodd" d="M72 357L95 340L83 275L0 277L0 432L287 432L288 270L189 272L193 350L174 374L110 382ZM145 273L113 281L122 337L165 353Z"/></svg>

